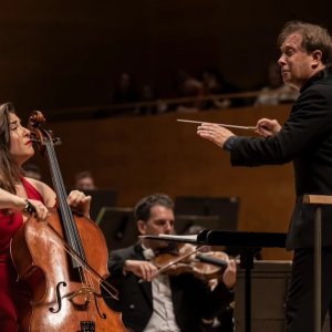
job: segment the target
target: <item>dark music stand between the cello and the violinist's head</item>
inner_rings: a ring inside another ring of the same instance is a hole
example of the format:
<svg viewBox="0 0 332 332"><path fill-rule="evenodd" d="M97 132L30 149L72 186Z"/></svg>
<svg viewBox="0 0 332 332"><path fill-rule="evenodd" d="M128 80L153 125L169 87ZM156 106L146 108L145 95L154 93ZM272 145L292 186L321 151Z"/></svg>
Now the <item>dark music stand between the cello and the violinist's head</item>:
<svg viewBox="0 0 332 332"><path fill-rule="evenodd" d="M97 215L96 224L102 229L108 250L133 245L138 237L133 208L103 207Z"/></svg>

